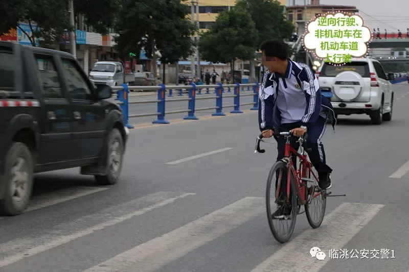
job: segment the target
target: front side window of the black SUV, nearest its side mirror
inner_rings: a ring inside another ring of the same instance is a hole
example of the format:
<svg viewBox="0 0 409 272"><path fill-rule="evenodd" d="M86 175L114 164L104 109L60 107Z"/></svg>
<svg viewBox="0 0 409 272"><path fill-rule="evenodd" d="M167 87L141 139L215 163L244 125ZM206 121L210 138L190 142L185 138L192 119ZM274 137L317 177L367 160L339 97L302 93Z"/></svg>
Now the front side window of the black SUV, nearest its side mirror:
<svg viewBox="0 0 409 272"><path fill-rule="evenodd" d="M92 100L93 95L87 82L79 71L78 65L71 59L62 59L64 76L68 83L68 94L71 99Z"/></svg>

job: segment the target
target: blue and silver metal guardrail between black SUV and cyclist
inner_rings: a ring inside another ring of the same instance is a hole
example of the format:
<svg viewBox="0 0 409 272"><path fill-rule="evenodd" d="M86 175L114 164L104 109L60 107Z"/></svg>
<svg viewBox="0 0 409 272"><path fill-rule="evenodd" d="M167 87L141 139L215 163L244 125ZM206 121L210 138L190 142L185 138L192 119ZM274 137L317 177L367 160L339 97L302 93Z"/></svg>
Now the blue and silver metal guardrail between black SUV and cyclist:
<svg viewBox="0 0 409 272"><path fill-rule="evenodd" d="M223 108L234 108L230 113L243 113L240 110L240 106L245 105L253 105L253 108L250 110L258 110L258 83L253 84L230 84L230 85L222 85L221 83L217 85L196 85L192 83L191 85L187 86L165 86L164 84L160 84L159 86L128 86L126 84L122 84L118 87L112 87L112 90L117 91L117 98L116 100L120 101L119 105L124 113L125 118L125 126L129 129L133 129L133 126L129 123L129 118L133 117L143 117L143 116L157 116L157 119L154 120L152 123L158 124L168 124L170 123L168 120L165 119L165 115L167 114L174 114L174 113L188 113L184 117L185 120L197 120L199 119L196 115L196 111L203 111L203 110L216 110L212 115L214 116L224 116ZM173 97L173 90L178 90L177 96L183 96L183 90L188 91L188 98L171 98L166 99L166 97ZM196 95L203 94L202 90L206 90L206 94L210 94L210 89L214 89L214 93L216 96L212 95L209 97L201 96L196 97ZM232 92L233 89L233 92ZM241 91L247 90L251 93L244 93L240 94ZM157 91L157 100L145 100L145 101L129 101L129 90L154 90ZM168 95L166 95L166 91L168 91ZM233 94L225 94L225 93L233 93ZM252 103L243 103L240 104L240 97L241 96L253 96ZM234 97L234 104L223 106L223 98ZM196 100L210 100L216 99L216 106L215 107L208 107L208 108L196 108ZM188 101L188 109L187 110L178 110L178 111L166 111L166 102L172 101ZM143 104L143 103L157 103L157 112L155 113L142 113L142 114L129 114L129 104Z"/></svg>

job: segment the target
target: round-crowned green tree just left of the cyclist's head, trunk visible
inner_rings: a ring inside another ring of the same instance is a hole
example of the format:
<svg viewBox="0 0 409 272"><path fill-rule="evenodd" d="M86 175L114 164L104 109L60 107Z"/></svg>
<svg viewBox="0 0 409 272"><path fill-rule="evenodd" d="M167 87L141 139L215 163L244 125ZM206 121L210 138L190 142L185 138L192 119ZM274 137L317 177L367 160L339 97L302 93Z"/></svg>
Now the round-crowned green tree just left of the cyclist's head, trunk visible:
<svg viewBox="0 0 409 272"><path fill-rule="evenodd" d="M242 9L225 10L199 40L201 58L213 63L231 63L255 57L259 35L250 14Z"/></svg>

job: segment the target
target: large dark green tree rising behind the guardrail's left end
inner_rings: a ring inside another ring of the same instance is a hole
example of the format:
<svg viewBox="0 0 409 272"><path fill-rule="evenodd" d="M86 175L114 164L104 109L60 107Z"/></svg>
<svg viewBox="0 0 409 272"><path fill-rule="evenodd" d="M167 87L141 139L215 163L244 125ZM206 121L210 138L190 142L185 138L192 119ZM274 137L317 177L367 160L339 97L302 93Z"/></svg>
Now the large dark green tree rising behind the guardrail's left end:
<svg viewBox="0 0 409 272"><path fill-rule="evenodd" d="M186 0L123 0L116 26L118 50L125 55L144 48L152 59L156 80L156 51L163 63L175 63L192 54L196 26L187 17L187 4Z"/></svg>

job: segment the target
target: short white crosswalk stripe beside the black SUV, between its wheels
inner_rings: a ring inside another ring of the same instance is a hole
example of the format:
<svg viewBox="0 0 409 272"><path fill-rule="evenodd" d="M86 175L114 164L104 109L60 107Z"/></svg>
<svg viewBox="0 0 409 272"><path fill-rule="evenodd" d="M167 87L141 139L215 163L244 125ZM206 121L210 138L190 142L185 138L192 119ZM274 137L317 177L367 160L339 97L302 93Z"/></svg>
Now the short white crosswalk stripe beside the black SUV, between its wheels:
<svg viewBox="0 0 409 272"><path fill-rule="evenodd" d="M61 189L58 191L52 191L50 193L44 195L38 195L37 197L33 197L33 200L30 201L29 207L26 209L25 212L30 212L34 210L38 210L41 208L46 208L48 206L52 206L55 204L59 204L65 201L77 199L78 197L85 196L88 194L105 191L109 188L101 188L101 187L75 187L75 188L67 188Z"/></svg>

